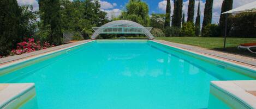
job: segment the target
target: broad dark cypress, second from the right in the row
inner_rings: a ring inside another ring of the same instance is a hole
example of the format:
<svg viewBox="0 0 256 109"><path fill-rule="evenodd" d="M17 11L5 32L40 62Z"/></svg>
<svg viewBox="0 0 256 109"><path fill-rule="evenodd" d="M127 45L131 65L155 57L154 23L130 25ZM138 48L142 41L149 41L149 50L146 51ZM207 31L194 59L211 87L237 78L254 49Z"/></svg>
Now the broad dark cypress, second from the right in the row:
<svg viewBox="0 0 256 109"><path fill-rule="evenodd" d="M205 2L205 9L204 9L204 20L203 20L203 27L202 27L202 36L205 36L205 27L212 22L212 5L213 0L206 0Z"/></svg>

